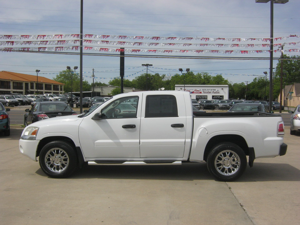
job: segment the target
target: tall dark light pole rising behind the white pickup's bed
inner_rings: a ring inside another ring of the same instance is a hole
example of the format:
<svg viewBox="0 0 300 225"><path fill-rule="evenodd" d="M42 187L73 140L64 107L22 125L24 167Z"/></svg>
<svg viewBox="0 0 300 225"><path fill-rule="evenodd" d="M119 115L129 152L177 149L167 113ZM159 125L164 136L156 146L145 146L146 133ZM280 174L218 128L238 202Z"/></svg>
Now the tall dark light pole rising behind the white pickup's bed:
<svg viewBox="0 0 300 225"><path fill-rule="evenodd" d="M273 101L273 5L274 3L277 4L285 4L288 0L255 0L258 3L267 3L271 2L271 13L270 13L270 99L269 99L269 110L272 109L272 101Z"/></svg>

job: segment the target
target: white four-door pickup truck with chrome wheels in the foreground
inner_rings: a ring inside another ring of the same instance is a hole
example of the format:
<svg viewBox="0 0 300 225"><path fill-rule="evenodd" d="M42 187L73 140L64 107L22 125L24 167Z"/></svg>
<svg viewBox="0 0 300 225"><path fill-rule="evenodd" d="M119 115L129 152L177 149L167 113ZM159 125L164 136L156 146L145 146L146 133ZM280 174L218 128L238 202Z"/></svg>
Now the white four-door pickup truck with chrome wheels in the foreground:
<svg viewBox="0 0 300 225"><path fill-rule="evenodd" d="M136 102L133 107L128 102ZM84 164L177 164L207 162L218 180L232 181L255 158L284 155L280 115L193 113L183 91L116 95L93 110L32 123L19 149L39 160L53 178L70 176Z"/></svg>

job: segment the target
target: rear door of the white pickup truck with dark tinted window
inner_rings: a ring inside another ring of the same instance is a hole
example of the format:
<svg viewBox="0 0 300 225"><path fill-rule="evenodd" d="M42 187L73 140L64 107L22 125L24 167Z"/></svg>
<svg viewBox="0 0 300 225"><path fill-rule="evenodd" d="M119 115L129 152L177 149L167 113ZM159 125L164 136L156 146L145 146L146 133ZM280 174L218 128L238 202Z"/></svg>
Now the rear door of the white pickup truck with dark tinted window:
<svg viewBox="0 0 300 225"><path fill-rule="evenodd" d="M182 158L186 125L186 108L181 92L174 95L144 93L140 125L141 158Z"/></svg>

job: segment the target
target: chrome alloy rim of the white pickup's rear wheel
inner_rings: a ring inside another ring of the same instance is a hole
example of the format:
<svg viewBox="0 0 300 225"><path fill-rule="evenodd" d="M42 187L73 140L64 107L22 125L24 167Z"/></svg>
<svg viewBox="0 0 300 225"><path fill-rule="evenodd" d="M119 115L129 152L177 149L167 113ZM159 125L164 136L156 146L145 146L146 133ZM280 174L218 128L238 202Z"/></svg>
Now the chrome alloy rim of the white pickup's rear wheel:
<svg viewBox="0 0 300 225"><path fill-rule="evenodd" d="M218 173L229 176L238 171L241 160L235 152L225 150L216 156L214 164Z"/></svg>

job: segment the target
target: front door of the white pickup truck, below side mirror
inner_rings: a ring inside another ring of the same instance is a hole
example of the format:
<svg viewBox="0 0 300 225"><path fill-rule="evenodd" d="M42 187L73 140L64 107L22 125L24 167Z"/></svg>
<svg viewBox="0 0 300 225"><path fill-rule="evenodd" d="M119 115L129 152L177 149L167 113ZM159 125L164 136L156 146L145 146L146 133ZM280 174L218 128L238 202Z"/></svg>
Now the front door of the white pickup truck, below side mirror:
<svg viewBox="0 0 300 225"><path fill-rule="evenodd" d="M137 108L128 100L137 102ZM79 127L84 156L108 160L139 158L140 108L139 97L130 96L116 99L104 107L99 120L84 118Z"/></svg>

